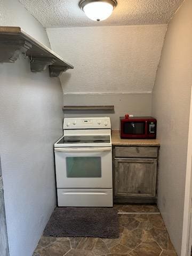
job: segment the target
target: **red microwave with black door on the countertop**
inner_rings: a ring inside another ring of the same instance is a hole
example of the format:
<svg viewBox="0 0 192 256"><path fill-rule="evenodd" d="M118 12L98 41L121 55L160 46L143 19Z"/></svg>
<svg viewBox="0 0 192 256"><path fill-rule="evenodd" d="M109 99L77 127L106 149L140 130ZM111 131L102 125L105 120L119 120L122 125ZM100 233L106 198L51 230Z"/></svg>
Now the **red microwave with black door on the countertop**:
<svg viewBox="0 0 192 256"><path fill-rule="evenodd" d="M120 117L122 139L156 139L157 120L151 116Z"/></svg>

